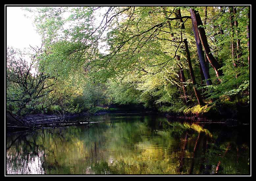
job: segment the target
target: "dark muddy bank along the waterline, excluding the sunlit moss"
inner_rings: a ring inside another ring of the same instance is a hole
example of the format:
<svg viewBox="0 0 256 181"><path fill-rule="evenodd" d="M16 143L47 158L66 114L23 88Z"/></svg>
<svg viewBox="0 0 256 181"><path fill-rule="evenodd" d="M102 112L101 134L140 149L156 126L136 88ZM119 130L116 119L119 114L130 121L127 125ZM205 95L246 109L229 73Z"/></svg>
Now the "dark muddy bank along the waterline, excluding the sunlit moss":
<svg viewBox="0 0 256 181"><path fill-rule="evenodd" d="M226 123L231 125L239 125L239 124L249 124L250 123L250 110L248 112L248 108L240 107L234 109L234 107L216 107L214 109L210 109L208 112L204 113L175 113L175 112L167 112L160 113L157 111L129 111L129 110L115 110L115 111L98 111L96 113L58 113L58 114L33 114L24 116L22 119L16 117L15 115L7 113L6 123L7 130L16 131L16 130L27 130L27 129L39 129L45 127L60 127L64 125L72 125L72 124L89 124L90 116L95 115L103 115L103 114L131 114L138 113L144 115L158 114L166 116L175 121L192 121L197 123ZM72 119L75 117L84 117L84 122L74 123L76 119ZM73 120L73 121L69 121ZM91 119L93 122L93 119Z"/></svg>

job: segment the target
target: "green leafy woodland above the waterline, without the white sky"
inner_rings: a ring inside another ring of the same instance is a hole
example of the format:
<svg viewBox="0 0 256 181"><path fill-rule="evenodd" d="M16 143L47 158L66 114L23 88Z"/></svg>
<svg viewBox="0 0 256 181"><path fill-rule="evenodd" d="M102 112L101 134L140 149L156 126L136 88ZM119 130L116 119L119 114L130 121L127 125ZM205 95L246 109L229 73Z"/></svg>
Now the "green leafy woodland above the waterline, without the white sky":
<svg viewBox="0 0 256 181"><path fill-rule="evenodd" d="M42 44L7 47L6 111L250 114L249 6L23 7Z"/></svg>

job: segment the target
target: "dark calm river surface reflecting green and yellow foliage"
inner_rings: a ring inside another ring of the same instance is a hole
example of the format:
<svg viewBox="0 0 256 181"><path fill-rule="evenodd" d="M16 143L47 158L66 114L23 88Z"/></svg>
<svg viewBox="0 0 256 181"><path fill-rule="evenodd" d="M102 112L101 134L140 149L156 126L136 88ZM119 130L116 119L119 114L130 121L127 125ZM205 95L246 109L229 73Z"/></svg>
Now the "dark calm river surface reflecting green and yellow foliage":
<svg viewBox="0 0 256 181"><path fill-rule="evenodd" d="M105 122L9 133L7 174L250 174L249 125L92 118Z"/></svg>

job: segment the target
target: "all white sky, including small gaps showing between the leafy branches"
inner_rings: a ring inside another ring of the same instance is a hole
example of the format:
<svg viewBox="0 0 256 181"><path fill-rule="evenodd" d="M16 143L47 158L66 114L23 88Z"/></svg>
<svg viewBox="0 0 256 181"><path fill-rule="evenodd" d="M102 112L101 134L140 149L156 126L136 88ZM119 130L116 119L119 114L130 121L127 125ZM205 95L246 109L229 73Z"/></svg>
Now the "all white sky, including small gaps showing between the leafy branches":
<svg viewBox="0 0 256 181"><path fill-rule="evenodd" d="M14 49L23 50L26 48L26 52L34 53L34 50L30 48L32 47L41 47L41 37L36 31L36 27L33 25L33 18L28 18L25 16L33 17L29 11L25 11L21 9L22 7L7 7L7 22L6 22L6 43L7 47L13 47ZM37 8L37 7L30 7ZM106 8L102 8L100 12L104 13L107 10ZM102 20L102 15L96 16L96 23L100 23ZM103 33L103 36L106 36L107 30ZM99 51L101 53L108 53L105 47L105 42L99 42ZM31 62L31 58L29 56L24 57L28 63ZM32 68L31 73L35 73L35 69Z"/></svg>

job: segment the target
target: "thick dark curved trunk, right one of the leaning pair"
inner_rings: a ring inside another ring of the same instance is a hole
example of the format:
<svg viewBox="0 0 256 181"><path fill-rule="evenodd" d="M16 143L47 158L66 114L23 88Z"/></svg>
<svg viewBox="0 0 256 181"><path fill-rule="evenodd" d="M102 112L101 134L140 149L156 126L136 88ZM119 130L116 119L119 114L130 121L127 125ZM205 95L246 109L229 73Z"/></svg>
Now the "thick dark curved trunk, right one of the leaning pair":
<svg viewBox="0 0 256 181"><path fill-rule="evenodd" d="M196 30L196 32L197 32L197 30L199 30L199 34L201 36L201 40L202 40L202 44L203 44L206 56L207 56L209 62L211 63L212 67L214 68L217 78L221 82L221 79L219 78L219 76L223 75L222 70L219 70L221 68L221 66L219 65L218 61L213 57L213 55L210 51L210 47L209 47L209 44L207 41L207 37L206 37L205 31L204 31L204 28L202 26L200 26L200 25L203 25L200 15L197 11L193 10L192 8L190 8L190 14L191 14L191 19L192 19L193 30L194 31ZM198 26L200 26L200 27L198 27ZM199 36L198 36L198 38L197 38L197 36L198 35L195 33L196 41L198 41L198 40L200 41ZM203 68L203 66L202 66L202 68Z"/></svg>

